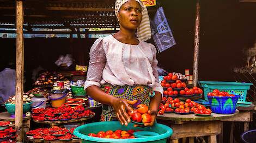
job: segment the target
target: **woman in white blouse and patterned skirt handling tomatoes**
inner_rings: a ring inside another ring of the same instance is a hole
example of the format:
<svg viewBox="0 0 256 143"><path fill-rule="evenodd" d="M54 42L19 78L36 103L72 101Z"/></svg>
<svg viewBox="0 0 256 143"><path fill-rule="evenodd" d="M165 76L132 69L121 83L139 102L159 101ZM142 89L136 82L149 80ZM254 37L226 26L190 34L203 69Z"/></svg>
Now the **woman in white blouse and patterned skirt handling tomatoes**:
<svg viewBox="0 0 256 143"><path fill-rule="evenodd" d="M90 49L90 62L84 89L103 103L101 121L131 121L133 112L126 100L140 100L149 106L152 126L161 102L163 88L157 73L156 48L144 42L151 37L147 8L140 0L115 2L120 31L97 39ZM104 88L103 90L100 87ZM154 96L151 96L154 92Z"/></svg>

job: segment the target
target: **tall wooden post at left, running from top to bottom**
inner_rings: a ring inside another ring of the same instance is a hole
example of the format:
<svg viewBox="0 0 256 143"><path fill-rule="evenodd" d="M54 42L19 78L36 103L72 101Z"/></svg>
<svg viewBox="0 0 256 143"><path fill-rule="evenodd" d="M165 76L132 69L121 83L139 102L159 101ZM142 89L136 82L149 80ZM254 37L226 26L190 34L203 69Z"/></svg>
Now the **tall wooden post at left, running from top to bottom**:
<svg viewBox="0 0 256 143"><path fill-rule="evenodd" d="M17 129L17 142L23 142L23 72L24 72L24 43L23 43L23 3L16 1L16 93L15 93L15 128Z"/></svg>

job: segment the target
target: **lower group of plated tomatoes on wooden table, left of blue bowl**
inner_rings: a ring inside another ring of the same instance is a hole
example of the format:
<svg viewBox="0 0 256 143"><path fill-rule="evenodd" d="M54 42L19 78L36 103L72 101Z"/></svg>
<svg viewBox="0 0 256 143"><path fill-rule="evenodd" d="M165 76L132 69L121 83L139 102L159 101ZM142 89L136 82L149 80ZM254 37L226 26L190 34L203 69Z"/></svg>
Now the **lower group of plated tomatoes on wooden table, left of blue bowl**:
<svg viewBox="0 0 256 143"><path fill-rule="evenodd" d="M164 113L176 113L176 114L191 114L201 116L211 115L211 109L205 108L205 106L200 105L197 102L191 101L191 99L186 99L185 102L180 101L178 98L163 97L162 102L159 106L159 114Z"/></svg>

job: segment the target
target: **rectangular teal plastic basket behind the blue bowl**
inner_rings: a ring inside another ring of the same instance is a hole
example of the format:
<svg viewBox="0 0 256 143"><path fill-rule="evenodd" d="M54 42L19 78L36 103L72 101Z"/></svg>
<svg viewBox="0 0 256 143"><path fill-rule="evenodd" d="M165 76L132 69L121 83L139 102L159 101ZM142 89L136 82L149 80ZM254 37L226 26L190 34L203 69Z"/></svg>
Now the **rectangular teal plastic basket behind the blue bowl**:
<svg viewBox="0 0 256 143"><path fill-rule="evenodd" d="M204 88L204 99L208 101L207 94L214 89L221 92L228 92L229 94L240 95L238 101L245 101L247 90L250 89L252 83L243 82L223 82L223 81L200 81L202 88Z"/></svg>

